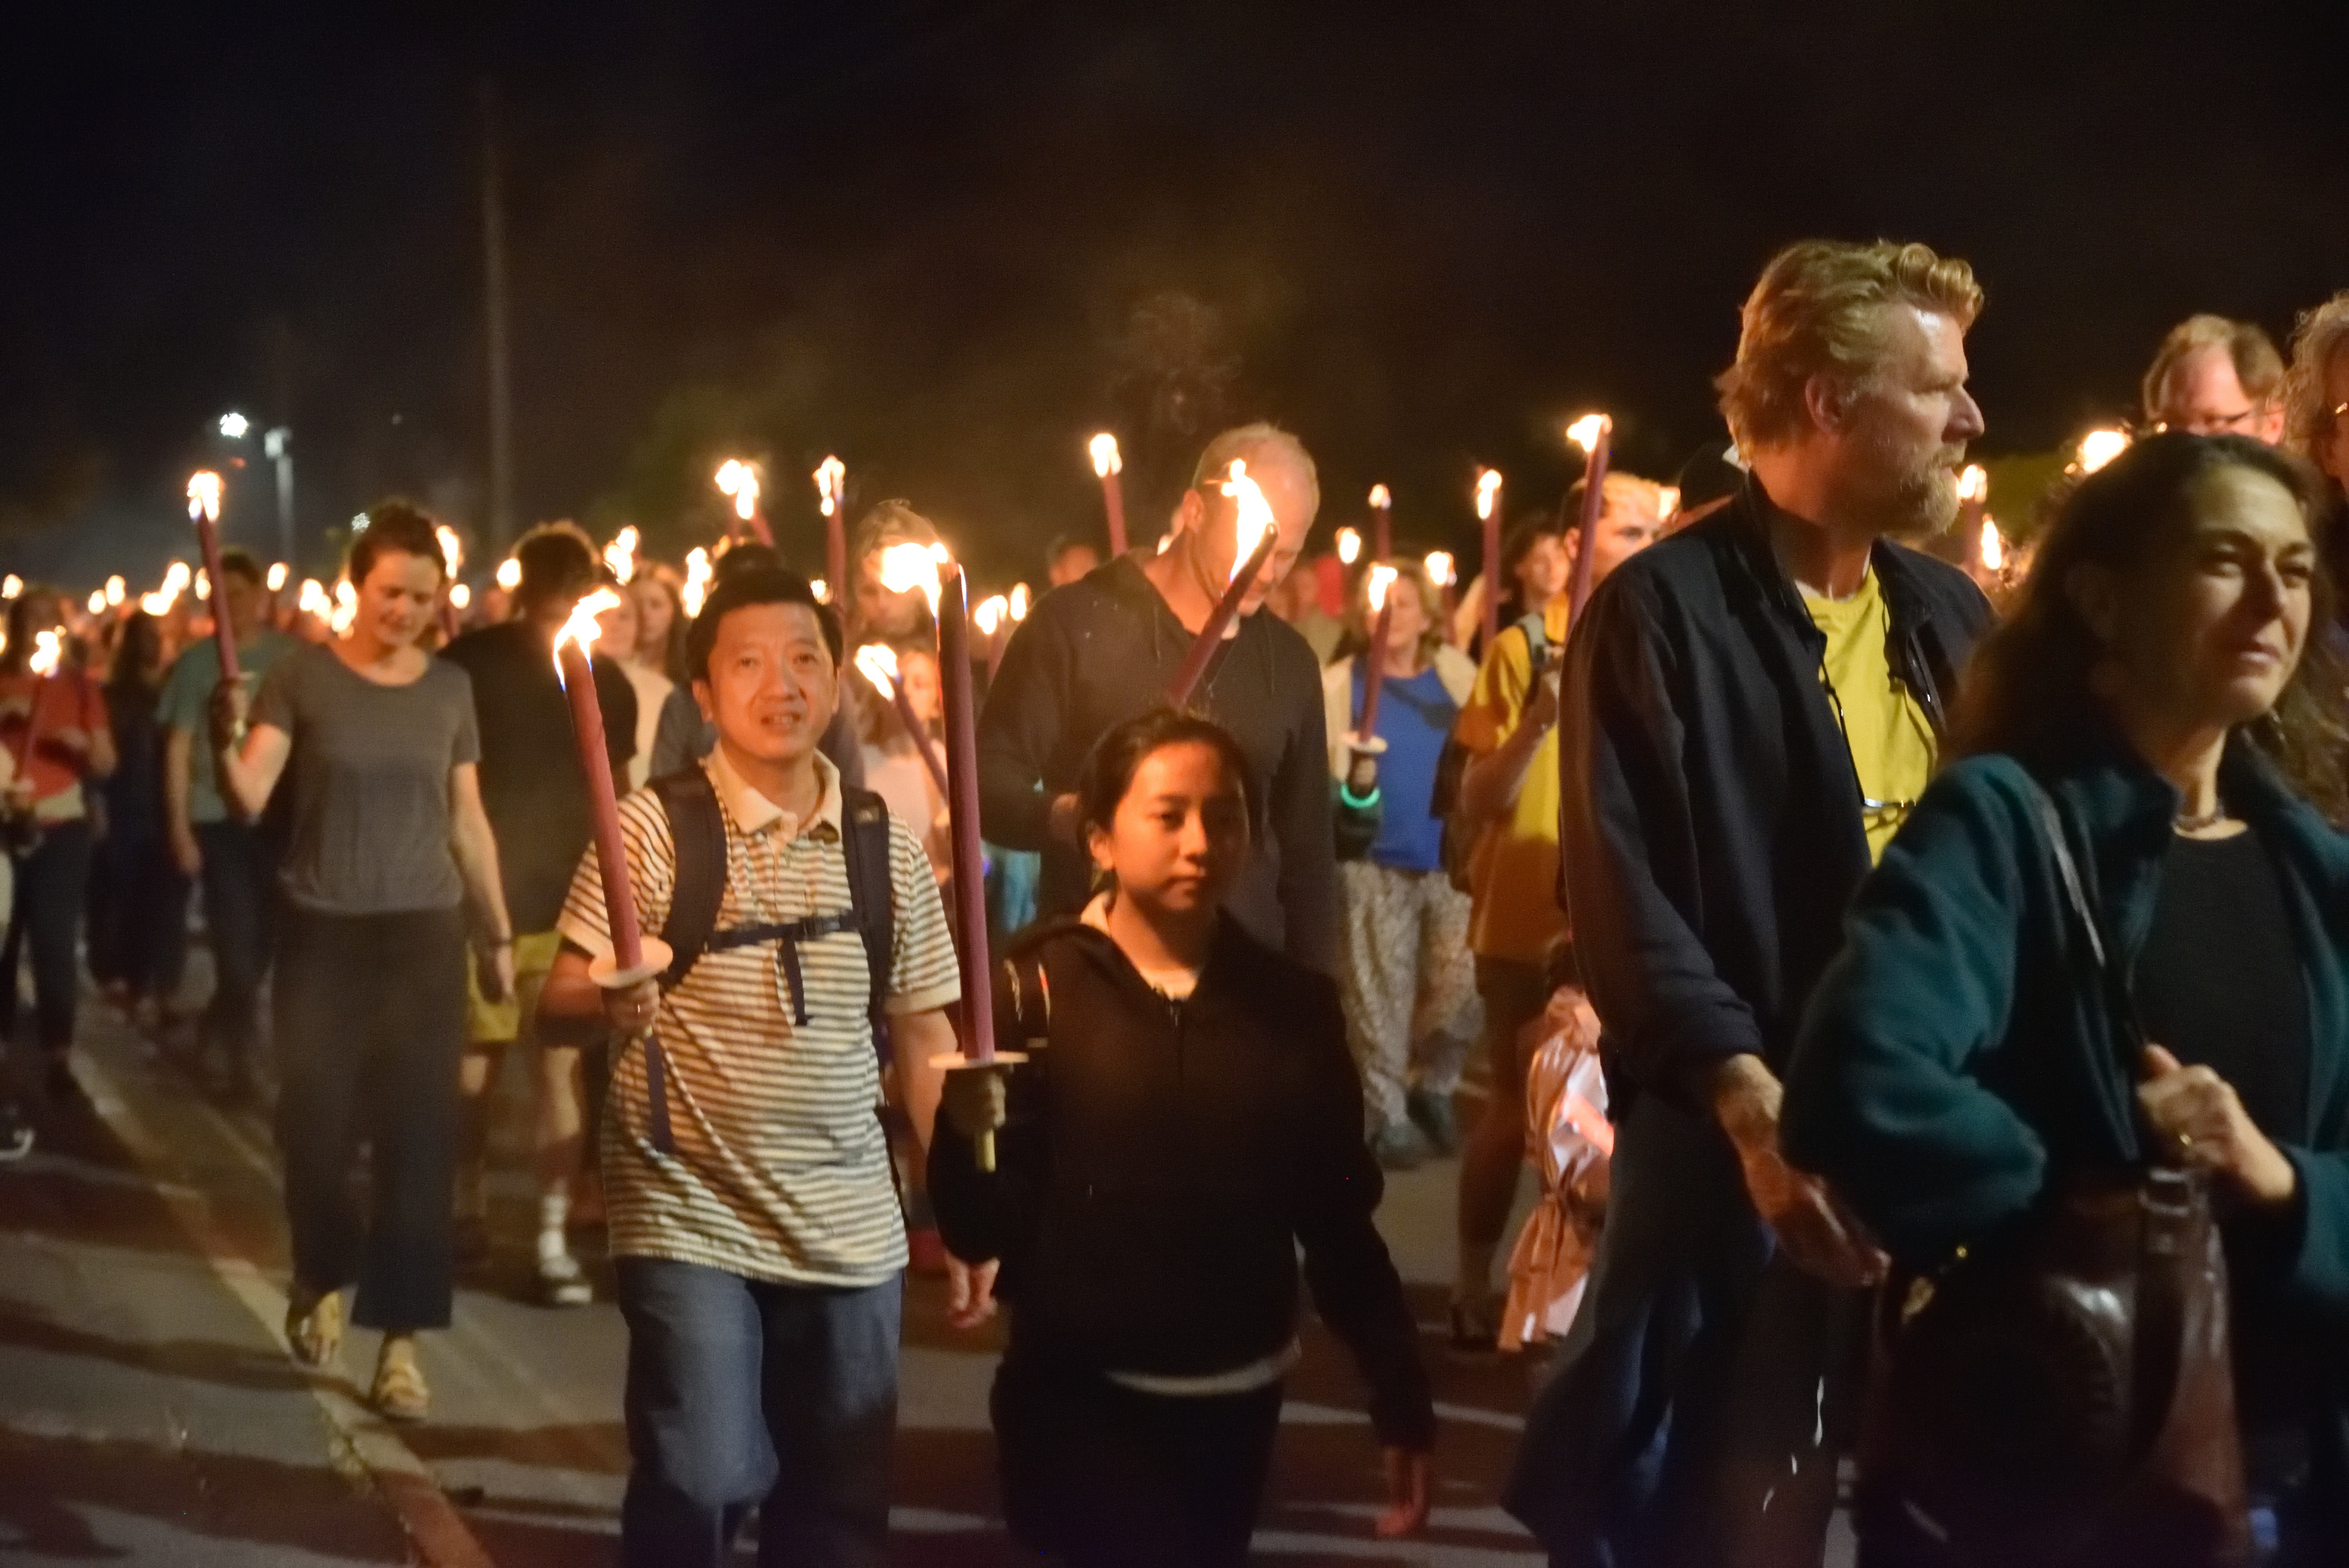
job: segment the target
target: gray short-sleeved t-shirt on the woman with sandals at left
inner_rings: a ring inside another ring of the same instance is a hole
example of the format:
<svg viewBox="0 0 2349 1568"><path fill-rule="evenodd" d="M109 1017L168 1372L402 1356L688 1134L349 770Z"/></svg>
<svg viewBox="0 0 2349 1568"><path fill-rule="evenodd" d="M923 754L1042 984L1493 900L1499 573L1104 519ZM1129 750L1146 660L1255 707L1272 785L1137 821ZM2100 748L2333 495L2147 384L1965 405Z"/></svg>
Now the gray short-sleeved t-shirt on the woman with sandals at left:
<svg viewBox="0 0 2349 1568"><path fill-rule="evenodd" d="M416 681L376 685L334 648L310 646L270 669L251 723L294 737L294 833L280 871L294 904L388 915L463 901L449 770L482 761L463 669L425 660Z"/></svg>

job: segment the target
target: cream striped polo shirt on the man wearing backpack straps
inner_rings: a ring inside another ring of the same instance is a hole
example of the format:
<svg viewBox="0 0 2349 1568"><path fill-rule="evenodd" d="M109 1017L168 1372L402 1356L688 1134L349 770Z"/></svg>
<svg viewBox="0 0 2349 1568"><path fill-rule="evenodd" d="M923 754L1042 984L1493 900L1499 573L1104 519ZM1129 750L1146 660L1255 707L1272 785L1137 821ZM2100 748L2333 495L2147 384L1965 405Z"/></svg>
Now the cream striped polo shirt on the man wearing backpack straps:
<svg viewBox="0 0 2349 1568"><path fill-rule="evenodd" d="M719 930L843 913L839 770L815 758L822 805L801 824L752 789L723 746L702 768L726 822ZM658 932L677 885L660 798L639 789L620 800L620 833L639 920ZM888 1012L947 1007L961 979L930 859L895 817L888 838L897 906ZM594 845L571 878L559 930L587 953L611 951ZM803 941L799 965L808 986L799 1026L773 941L702 953L686 984L662 995L669 1155L651 1141L644 1052L618 1054L604 1115L613 1256L817 1286L879 1284L904 1268L904 1221L874 1115L881 1075L864 1014L864 941L853 930Z"/></svg>

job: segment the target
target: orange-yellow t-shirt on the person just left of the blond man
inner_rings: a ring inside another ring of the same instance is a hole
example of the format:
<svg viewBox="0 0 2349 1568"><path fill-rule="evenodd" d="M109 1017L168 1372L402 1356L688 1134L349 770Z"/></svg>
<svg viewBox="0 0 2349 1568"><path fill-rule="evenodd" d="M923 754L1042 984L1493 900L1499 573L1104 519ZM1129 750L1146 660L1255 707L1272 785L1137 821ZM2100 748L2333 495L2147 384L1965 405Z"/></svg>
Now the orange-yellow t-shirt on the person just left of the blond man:
<svg viewBox="0 0 2349 1568"><path fill-rule="evenodd" d="M1567 646L1567 606L1553 603L1541 617L1555 657ZM1475 690L1452 730L1468 756L1492 756L1515 732L1534 688L1534 662L1525 636L1506 627L1494 638ZM1567 930L1557 906L1557 730L1525 768L1517 803L1478 836L1468 859L1468 951L1539 965L1550 941Z"/></svg>

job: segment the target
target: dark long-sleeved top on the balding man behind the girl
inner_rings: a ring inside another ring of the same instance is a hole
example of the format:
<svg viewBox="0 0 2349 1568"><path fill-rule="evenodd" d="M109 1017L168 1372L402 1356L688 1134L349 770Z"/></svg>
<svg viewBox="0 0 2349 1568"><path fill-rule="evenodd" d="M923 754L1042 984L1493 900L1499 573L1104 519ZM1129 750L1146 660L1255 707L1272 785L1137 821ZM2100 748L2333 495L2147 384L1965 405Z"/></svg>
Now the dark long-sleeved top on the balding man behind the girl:
<svg viewBox="0 0 2349 1568"><path fill-rule="evenodd" d="M989 843L1041 850L1041 915L1073 915L1090 894L1083 852L1048 831L1052 798L1076 789L1085 753L1113 725L1165 699L1191 650L1135 556L1057 587L1003 650L980 714L980 815ZM1337 972L1337 847L1320 662L1268 610L1240 622L1193 704L1247 753L1259 845L1226 908L1266 946Z"/></svg>

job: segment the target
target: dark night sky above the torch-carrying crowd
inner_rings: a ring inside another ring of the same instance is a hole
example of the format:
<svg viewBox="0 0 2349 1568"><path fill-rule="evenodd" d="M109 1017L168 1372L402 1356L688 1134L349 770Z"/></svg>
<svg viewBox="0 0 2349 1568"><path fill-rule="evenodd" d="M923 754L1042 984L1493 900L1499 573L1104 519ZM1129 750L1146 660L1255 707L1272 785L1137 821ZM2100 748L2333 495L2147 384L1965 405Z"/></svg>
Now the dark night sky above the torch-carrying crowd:
<svg viewBox="0 0 2349 1568"><path fill-rule="evenodd" d="M186 554L228 408L294 427L312 570L385 491L486 526L486 80L514 509L669 549L731 453L808 549L839 451L1036 575L1092 430L1151 512L1252 415L1325 521L1384 479L1463 540L1475 465L1555 500L1588 406L1656 477L1712 437L1804 235L1976 263L1990 453L2128 413L2194 310L2281 340L2349 286L2337 2L89 5L5 54L0 566L82 589Z"/></svg>

